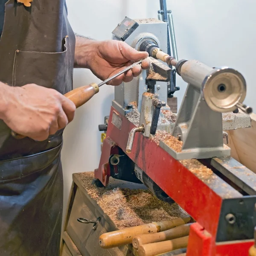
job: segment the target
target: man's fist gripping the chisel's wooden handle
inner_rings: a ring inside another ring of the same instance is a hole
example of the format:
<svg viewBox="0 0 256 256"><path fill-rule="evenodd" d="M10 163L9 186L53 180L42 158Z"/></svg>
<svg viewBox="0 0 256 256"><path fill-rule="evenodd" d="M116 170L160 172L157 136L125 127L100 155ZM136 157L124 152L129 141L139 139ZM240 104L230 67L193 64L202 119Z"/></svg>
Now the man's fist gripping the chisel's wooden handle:
<svg viewBox="0 0 256 256"><path fill-rule="evenodd" d="M47 140L74 118L75 104L54 89L0 83L0 93L0 119L12 131L33 140Z"/></svg>

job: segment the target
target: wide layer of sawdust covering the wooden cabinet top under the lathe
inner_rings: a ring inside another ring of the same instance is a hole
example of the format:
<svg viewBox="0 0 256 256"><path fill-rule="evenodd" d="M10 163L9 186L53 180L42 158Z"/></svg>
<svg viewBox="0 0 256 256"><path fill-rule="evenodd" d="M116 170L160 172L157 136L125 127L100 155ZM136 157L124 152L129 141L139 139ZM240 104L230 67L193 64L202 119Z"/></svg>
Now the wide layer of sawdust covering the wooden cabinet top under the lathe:
<svg viewBox="0 0 256 256"><path fill-rule="evenodd" d="M119 229L188 215L177 204L160 201L147 189L120 188L125 183L122 180L110 178L108 187L99 188L92 182L93 172L74 175Z"/></svg>

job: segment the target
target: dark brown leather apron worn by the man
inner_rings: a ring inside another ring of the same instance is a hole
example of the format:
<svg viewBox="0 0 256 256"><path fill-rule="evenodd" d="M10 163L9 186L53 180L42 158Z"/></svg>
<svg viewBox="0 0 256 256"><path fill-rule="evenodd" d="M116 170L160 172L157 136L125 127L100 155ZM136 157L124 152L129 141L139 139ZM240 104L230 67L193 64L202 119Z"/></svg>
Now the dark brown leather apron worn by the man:
<svg viewBox="0 0 256 256"><path fill-rule="evenodd" d="M75 35L64 0L6 3L0 81L73 88ZM62 132L16 140L0 120L0 256L59 256L63 207Z"/></svg>

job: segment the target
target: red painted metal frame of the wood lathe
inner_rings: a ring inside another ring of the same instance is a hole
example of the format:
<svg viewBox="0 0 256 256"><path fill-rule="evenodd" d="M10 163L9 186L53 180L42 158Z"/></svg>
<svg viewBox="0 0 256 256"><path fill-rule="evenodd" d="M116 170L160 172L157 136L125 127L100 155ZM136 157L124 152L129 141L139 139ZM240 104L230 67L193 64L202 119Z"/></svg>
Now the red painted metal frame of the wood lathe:
<svg viewBox="0 0 256 256"><path fill-rule="evenodd" d="M122 119L120 130L111 122L113 111ZM108 185L110 176L109 157L111 154L116 154L115 145L125 152L129 132L132 128L134 128L134 124L111 107L99 169L95 170L95 177L104 186ZM225 245L222 245L222 247L215 246L222 204L222 198L218 194L213 192L203 181L170 156L163 148L157 146L156 143L141 133L136 133L133 150L129 157L167 195L197 221L192 225L190 231L187 256L212 256L216 255L215 251L217 251L218 256L233 255L220 254L225 252L225 249L223 249Z"/></svg>

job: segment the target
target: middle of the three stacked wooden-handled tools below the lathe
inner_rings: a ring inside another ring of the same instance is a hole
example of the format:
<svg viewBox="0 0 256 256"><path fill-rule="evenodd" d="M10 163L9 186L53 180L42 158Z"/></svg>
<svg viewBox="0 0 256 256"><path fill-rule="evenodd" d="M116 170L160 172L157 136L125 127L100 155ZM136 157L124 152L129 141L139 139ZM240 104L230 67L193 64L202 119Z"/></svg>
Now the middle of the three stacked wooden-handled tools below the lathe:
<svg viewBox="0 0 256 256"><path fill-rule="evenodd" d="M134 238L132 239L132 245L134 248L138 249L139 246L143 244L156 243L160 241L188 236L191 224L192 223L188 223L159 233L134 236Z"/></svg>

